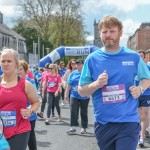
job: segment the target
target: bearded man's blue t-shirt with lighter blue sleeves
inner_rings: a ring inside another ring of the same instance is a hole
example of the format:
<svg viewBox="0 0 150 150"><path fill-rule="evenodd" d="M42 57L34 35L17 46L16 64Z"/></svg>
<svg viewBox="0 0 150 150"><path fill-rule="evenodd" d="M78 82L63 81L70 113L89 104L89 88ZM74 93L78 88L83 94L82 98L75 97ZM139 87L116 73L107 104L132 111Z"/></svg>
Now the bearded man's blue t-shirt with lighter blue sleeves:
<svg viewBox="0 0 150 150"><path fill-rule="evenodd" d="M108 84L92 94L95 121L140 122L138 100L130 94L134 78L150 78L150 73L142 58L134 51L120 48L117 52L106 52L103 48L90 54L85 60L79 85L90 84L107 71Z"/></svg>

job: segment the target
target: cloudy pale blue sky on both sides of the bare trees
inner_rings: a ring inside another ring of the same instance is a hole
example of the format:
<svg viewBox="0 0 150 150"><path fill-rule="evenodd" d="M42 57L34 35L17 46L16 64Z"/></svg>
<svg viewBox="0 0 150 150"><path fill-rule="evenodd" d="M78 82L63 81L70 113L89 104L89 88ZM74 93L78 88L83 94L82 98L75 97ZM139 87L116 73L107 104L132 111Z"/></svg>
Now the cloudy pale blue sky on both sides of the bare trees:
<svg viewBox="0 0 150 150"><path fill-rule="evenodd" d="M13 26L17 15L17 0L0 0L0 11L3 13L4 24ZM150 22L150 0L83 0L85 30L90 32L87 37L94 38L94 20L99 22L106 15L113 15L123 23L121 45L126 46L128 37L140 27L141 23Z"/></svg>

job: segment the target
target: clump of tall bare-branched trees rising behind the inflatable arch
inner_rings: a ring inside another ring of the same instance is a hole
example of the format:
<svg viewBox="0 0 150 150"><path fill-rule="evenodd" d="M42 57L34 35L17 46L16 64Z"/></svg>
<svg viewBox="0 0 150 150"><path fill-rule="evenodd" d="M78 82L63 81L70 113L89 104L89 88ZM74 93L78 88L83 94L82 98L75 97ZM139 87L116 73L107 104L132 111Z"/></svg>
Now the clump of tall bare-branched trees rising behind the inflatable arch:
<svg viewBox="0 0 150 150"><path fill-rule="evenodd" d="M81 0L19 0L18 5L29 26L51 41L53 48L85 44Z"/></svg>

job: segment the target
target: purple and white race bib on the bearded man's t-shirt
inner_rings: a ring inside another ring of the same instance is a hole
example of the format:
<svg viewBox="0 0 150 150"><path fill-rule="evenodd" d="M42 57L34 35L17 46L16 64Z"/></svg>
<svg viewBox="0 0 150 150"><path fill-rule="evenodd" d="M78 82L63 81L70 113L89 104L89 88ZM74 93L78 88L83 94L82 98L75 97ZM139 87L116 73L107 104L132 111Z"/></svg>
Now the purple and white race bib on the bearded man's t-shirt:
<svg viewBox="0 0 150 150"><path fill-rule="evenodd" d="M112 85L102 88L102 98L104 104L120 103L126 101L125 85Z"/></svg>

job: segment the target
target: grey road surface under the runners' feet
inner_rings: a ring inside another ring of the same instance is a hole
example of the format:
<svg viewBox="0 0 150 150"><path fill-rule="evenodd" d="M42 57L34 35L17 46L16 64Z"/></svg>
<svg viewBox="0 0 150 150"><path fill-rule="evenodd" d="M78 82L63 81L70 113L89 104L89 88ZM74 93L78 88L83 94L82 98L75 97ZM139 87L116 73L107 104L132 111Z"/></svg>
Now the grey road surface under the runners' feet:
<svg viewBox="0 0 150 150"><path fill-rule="evenodd" d="M47 107L45 108L45 117L46 111ZM55 114L57 114L56 110ZM70 108L68 105L61 106L61 115L61 122L57 122L57 117L53 117L50 125L45 125L45 119L37 119L35 133L38 150L99 150L94 135L94 117L91 101L88 107L89 125L87 134L80 134L80 127L77 128L75 135L66 133L70 128ZM150 150L150 138L146 139L144 148L137 147L137 150L143 149Z"/></svg>

